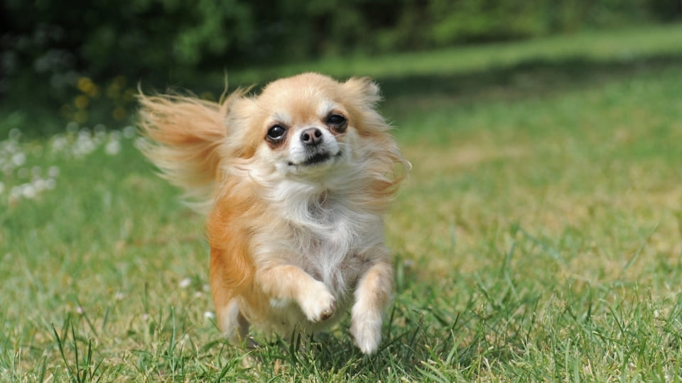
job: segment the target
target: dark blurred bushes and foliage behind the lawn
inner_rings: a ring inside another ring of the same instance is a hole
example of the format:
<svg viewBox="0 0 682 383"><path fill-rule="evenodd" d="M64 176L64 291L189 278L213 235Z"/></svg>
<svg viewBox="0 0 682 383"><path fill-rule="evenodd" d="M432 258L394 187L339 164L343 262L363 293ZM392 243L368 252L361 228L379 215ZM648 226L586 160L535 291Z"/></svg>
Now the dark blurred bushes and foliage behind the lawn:
<svg viewBox="0 0 682 383"><path fill-rule="evenodd" d="M352 60L318 67L320 59L682 18L680 0L6 0L2 7L2 136L18 125L24 134L44 135L67 121L124 124L138 84L192 89L210 99L220 95L224 77L233 89L301 70L373 74ZM400 64L410 65L408 57Z"/></svg>

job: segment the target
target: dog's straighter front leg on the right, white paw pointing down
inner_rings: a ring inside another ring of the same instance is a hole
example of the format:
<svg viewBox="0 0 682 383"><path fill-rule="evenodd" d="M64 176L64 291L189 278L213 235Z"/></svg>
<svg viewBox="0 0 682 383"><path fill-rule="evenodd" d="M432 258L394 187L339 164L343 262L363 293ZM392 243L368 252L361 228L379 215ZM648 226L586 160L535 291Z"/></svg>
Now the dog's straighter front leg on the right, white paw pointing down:
<svg viewBox="0 0 682 383"><path fill-rule="evenodd" d="M392 287L393 267L386 261L374 263L357 283L350 333L364 354L372 354L379 347L382 316L391 299Z"/></svg>

